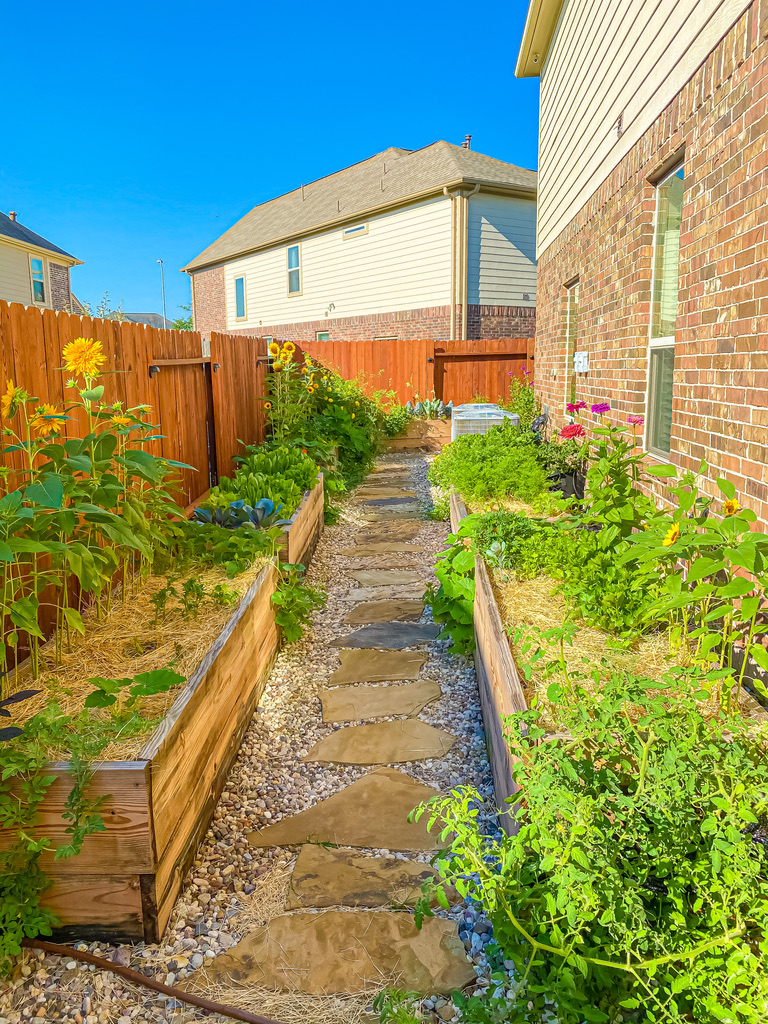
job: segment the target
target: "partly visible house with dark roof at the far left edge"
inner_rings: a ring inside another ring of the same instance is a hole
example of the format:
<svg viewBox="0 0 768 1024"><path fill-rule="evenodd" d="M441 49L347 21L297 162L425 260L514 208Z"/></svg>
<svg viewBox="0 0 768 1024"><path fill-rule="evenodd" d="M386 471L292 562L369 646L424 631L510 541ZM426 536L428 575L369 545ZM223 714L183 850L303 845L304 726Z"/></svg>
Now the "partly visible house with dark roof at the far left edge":
<svg viewBox="0 0 768 1024"><path fill-rule="evenodd" d="M0 299L81 312L72 294L70 268L82 262L19 224L14 212L0 213Z"/></svg>

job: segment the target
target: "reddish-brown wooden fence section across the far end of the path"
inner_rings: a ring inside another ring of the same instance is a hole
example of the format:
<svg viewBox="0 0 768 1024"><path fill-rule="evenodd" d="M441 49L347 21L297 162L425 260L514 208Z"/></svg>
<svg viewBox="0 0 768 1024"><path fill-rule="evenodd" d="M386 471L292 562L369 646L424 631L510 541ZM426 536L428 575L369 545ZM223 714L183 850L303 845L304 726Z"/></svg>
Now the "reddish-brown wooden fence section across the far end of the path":
<svg viewBox="0 0 768 1024"><path fill-rule="evenodd" d="M484 341L302 341L302 348L342 377L362 375L369 390L392 389L401 402L414 394L459 406L477 395L496 401L512 377L534 370L532 338ZM531 378L532 379L532 378Z"/></svg>

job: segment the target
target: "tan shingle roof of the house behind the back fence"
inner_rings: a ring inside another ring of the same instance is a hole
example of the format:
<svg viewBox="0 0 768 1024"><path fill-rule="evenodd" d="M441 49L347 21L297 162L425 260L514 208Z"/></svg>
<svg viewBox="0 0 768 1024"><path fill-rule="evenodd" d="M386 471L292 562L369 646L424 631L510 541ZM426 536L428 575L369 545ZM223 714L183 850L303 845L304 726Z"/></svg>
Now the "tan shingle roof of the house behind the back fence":
<svg viewBox="0 0 768 1024"><path fill-rule="evenodd" d="M537 173L450 142L394 146L254 207L184 270L197 270L321 227L359 218L443 185L485 184L536 198Z"/></svg>

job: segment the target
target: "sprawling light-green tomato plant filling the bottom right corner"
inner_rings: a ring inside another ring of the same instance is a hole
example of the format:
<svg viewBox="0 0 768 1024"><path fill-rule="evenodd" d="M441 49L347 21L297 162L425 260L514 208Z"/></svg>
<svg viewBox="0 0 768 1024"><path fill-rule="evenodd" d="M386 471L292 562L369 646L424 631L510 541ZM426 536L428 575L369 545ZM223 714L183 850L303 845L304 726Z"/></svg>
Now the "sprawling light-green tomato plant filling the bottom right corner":
<svg viewBox="0 0 768 1024"><path fill-rule="evenodd" d="M705 719L695 675L598 681L563 695L547 742L538 712L508 722L515 836L488 843L469 788L423 812L456 835L442 879L482 901L516 965L502 1019L758 1024L766 728Z"/></svg>

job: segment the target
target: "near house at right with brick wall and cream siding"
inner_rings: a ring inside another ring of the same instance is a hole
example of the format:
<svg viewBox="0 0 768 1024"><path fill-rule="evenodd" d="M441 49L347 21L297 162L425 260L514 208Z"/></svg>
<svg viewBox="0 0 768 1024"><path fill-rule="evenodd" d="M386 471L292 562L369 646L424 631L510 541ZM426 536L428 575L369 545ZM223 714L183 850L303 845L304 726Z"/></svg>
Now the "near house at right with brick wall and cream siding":
<svg viewBox="0 0 768 1024"><path fill-rule="evenodd" d="M768 521L768 0L530 0L537 389L646 419ZM574 373L573 355L588 360Z"/></svg>

